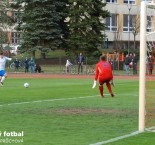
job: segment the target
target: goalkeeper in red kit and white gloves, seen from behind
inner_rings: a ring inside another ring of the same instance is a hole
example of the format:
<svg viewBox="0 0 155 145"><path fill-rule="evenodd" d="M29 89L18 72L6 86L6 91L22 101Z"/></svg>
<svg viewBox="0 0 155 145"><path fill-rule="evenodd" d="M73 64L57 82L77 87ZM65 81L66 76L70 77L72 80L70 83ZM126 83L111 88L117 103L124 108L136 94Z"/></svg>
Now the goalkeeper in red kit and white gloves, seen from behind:
<svg viewBox="0 0 155 145"><path fill-rule="evenodd" d="M96 87L97 80L99 82L99 91L100 91L101 97L102 98L104 97L104 93L103 93L104 83L106 83L106 86L111 96L114 97L111 84L110 84L111 81L113 82L112 67L111 67L111 64L105 60L105 56L101 56L100 62L96 64L96 73L95 73L94 84L92 88Z"/></svg>

